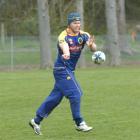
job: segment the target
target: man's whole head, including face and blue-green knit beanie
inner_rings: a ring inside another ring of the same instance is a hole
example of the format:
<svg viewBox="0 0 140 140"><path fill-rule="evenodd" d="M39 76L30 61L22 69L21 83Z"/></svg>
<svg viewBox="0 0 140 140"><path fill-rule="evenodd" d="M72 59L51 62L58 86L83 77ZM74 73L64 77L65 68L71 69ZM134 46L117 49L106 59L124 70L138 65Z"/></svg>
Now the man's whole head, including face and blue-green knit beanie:
<svg viewBox="0 0 140 140"><path fill-rule="evenodd" d="M77 12L72 12L68 15L68 26L72 30L73 33L79 33L81 26L81 17Z"/></svg>

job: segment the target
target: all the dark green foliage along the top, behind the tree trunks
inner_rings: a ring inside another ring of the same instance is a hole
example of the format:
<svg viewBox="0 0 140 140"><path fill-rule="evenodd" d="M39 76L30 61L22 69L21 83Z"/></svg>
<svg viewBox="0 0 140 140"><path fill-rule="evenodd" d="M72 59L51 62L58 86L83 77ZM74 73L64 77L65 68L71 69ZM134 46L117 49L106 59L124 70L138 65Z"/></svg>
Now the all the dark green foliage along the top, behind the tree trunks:
<svg viewBox="0 0 140 140"><path fill-rule="evenodd" d="M66 17L75 11L74 0L49 0L50 22L53 34L58 34L67 25ZM127 23L138 23L140 2L126 0ZM85 30L92 34L106 32L105 0L84 0ZM37 35L37 1L36 0L1 0L0 22L5 23L8 35Z"/></svg>

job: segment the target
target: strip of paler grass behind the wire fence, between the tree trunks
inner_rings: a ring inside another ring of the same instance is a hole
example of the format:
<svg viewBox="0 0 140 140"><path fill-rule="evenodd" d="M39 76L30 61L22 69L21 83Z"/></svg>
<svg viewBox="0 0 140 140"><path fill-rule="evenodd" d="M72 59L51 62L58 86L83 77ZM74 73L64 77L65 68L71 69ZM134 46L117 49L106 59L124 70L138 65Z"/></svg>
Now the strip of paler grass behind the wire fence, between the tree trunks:
<svg viewBox="0 0 140 140"><path fill-rule="evenodd" d="M125 53L121 53L121 60L123 64L127 64L127 62L131 62L131 64L137 64L140 61L140 47L139 40L136 42L132 42L130 38L129 45L132 49L134 49L137 53L133 53L132 55L128 55ZM56 44L57 37L52 36L51 38L51 51L53 60L56 58ZM96 43L98 46L98 50L102 50L105 45L105 36L96 36ZM13 63L14 67L20 65L39 65L40 63L40 43L38 37L31 36L21 36L14 37L14 53L13 53ZM86 47L85 47L86 48ZM10 66L11 64L11 38L7 37L5 46L1 45L0 41L0 66ZM88 65L92 65L89 62L91 61L92 53L89 49L85 50L85 58L87 60ZM88 61L89 60L89 61Z"/></svg>

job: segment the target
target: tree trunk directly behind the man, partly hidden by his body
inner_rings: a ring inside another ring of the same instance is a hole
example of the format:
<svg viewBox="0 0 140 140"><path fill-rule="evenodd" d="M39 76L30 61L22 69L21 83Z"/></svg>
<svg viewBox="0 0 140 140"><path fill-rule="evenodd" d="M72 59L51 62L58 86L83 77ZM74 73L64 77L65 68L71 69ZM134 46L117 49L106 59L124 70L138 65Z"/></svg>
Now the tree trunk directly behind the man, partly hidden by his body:
<svg viewBox="0 0 140 140"><path fill-rule="evenodd" d="M84 6L83 6L83 0L77 0L76 1L76 8L77 12L81 15L81 29L84 29ZM79 60L79 66L81 68L86 67L86 60L85 60L85 49L81 53L80 60Z"/></svg>

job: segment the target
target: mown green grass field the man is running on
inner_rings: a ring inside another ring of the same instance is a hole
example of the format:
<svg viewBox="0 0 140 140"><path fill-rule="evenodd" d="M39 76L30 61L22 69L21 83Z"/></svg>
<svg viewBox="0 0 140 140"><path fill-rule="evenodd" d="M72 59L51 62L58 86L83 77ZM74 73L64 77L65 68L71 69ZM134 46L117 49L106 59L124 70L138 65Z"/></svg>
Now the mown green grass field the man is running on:
<svg viewBox="0 0 140 140"><path fill-rule="evenodd" d="M1 72L0 140L139 140L140 67L78 69L76 76L93 131L75 130L64 98L43 121L43 136L35 135L28 121L53 87L52 71Z"/></svg>

